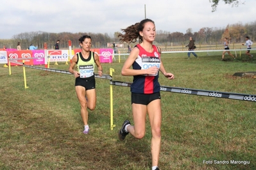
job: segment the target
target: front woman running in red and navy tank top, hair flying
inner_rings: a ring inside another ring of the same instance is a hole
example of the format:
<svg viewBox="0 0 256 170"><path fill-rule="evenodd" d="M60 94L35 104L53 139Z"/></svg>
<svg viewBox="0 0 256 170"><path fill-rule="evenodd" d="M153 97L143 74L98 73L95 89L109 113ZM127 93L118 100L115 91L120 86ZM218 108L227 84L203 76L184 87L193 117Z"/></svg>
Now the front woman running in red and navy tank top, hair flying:
<svg viewBox="0 0 256 170"><path fill-rule="evenodd" d="M134 125L132 126L129 120L125 120L119 130L118 137L120 141L123 141L126 135L130 133L133 137L142 139L146 133L145 121L148 112L152 134L152 169L159 169L162 111L158 73L160 70L168 79L174 79L174 75L166 72L160 58L160 48L153 45L156 36L153 20L144 19L121 30L124 32L124 34L118 35L121 37L121 42L134 43L139 38L139 44L132 49L121 71L122 75L133 76L133 83L130 88Z"/></svg>

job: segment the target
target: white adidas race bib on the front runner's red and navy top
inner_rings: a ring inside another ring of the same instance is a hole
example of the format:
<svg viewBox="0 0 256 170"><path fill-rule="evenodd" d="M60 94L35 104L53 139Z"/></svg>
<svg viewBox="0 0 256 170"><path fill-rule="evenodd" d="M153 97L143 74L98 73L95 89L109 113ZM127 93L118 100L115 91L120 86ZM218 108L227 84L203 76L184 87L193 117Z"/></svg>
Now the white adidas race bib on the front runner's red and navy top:
<svg viewBox="0 0 256 170"><path fill-rule="evenodd" d="M151 66L157 66L157 68L160 68L160 58L156 57L147 57L142 58L142 66L141 70L146 70L150 68ZM145 76L157 76L158 72L156 74L144 74Z"/></svg>

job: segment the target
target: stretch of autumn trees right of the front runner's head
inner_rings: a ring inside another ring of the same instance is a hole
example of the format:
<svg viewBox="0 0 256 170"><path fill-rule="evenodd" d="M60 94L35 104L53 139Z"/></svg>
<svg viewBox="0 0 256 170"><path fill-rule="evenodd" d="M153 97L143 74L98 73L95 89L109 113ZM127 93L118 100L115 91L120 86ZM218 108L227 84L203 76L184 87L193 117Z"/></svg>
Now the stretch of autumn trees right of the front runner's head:
<svg viewBox="0 0 256 170"><path fill-rule="evenodd" d="M167 35L167 36L166 36ZM245 36L250 36L251 40L256 39L256 21L242 24L228 24L226 28L202 27L198 32L192 33L192 28L187 29L186 33L167 33L164 31L157 32L158 43L173 43L173 45L186 44L189 37L192 36L196 42L201 44L220 44L223 38L229 38L230 43L241 43L245 41Z"/></svg>

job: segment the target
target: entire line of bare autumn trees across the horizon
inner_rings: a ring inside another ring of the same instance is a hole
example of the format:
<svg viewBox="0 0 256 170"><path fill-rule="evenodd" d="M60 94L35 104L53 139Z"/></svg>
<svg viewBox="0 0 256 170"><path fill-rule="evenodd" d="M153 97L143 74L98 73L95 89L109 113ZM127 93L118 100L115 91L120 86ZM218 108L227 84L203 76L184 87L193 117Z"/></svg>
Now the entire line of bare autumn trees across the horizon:
<svg viewBox="0 0 256 170"><path fill-rule="evenodd" d="M90 35L92 37L92 47L107 47L107 43L118 43L118 32L110 36L107 33L46 33L42 31L20 33L14 35L10 40L0 40L0 49L16 48L17 42L21 42L22 49L27 49L31 43L38 46L38 49L44 49L44 43L47 43L48 49L53 49L56 40L60 40L60 49L68 49L68 40L71 40L73 47L78 48L78 39L82 35ZM189 43L189 37L192 36L197 43L201 44L221 44L223 38L229 38L230 43L244 42L245 36L250 36L251 40L256 39L256 20L248 24L230 24L226 28L218 27L202 27L197 32L192 32L192 28L187 29L186 33L168 31L157 31L155 43L158 45L185 45ZM132 44L133 45L133 44ZM126 45L124 45L126 47Z"/></svg>

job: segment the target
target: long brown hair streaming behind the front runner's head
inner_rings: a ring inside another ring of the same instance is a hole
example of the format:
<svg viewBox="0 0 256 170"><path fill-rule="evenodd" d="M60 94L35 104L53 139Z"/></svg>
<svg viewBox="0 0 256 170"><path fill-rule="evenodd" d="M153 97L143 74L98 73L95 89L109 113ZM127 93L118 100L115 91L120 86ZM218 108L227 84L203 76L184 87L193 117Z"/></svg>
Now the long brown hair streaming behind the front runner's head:
<svg viewBox="0 0 256 170"><path fill-rule="evenodd" d="M153 24L155 24L155 22L153 22L153 20L151 19L144 19L141 22L137 22L132 26L126 27L126 29L121 29L124 34L119 33L118 37L121 37L119 39L120 42L135 43L137 42L137 38L139 37L139 43L141 43L143 41L143 38L139 34L139 32L143 31L146 22L152 22Z"/></svg>

